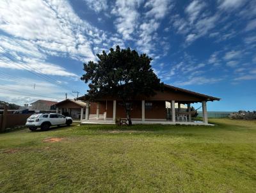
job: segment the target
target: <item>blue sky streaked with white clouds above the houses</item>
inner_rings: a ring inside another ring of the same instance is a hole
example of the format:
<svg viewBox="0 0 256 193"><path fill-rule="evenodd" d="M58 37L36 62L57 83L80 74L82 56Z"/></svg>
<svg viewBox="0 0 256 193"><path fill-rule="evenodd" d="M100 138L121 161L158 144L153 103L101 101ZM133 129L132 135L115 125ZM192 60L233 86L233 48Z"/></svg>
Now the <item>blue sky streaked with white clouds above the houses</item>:
<svg viewBox="0 0 256 193"><path fill-rule="evenodd" d="M209 111L256 110L255 0L1 0L0 100L84 95L83 63L116 45L148 54L165 84L221 98Z"/></svg>

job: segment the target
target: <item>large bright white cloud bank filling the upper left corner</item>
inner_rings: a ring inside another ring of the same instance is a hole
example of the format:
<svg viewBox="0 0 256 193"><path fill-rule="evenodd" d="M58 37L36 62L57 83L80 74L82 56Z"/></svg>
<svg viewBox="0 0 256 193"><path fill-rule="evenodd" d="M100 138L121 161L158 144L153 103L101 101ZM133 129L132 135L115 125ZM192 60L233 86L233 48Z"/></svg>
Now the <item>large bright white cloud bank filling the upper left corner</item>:
<svg viewBox="0 0 256 193"><path fill-rule="evenodd" d="M101 33L79 19L65 0L1 1L0 28L48 54L61 52L83 61L95 59L90 41Z"/></svg>

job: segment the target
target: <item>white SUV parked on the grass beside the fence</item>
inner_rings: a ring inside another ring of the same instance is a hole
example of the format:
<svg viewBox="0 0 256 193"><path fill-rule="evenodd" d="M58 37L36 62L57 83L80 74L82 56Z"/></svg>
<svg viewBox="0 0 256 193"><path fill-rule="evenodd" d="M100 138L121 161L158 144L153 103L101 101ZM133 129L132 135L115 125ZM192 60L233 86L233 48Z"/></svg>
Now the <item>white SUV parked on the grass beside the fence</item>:
<svg viewBox="0 0 256 193"><path fill-rule="evenodd" d="M49 127L53 125L71 125L73 122L72 118L63 116L58 113L49 113L49 114L32 114L29 116L26 127L28 127L31 131L36 130L36 128L40 127L41 130L47 130Z"/></svg>

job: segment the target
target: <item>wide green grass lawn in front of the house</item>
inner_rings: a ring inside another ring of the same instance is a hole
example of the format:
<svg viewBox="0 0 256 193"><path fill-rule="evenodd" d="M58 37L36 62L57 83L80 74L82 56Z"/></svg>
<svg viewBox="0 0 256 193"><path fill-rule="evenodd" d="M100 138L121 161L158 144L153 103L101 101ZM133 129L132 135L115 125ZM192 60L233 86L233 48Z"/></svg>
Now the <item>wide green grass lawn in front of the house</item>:
<svg viewBox="0 0 256 193"><path fill-rule="evenodd" d="M256 121L210 122L0 134L0 192L256 192Z"/></svg>

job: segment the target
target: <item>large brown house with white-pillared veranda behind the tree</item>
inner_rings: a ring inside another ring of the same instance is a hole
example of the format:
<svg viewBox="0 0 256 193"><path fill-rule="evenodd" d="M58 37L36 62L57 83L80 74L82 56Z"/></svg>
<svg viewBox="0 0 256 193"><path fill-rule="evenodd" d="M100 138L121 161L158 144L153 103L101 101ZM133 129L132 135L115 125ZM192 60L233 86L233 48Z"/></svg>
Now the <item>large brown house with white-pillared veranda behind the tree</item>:
<svg viewBox="0 0 256 193"><path fill-rule="evenodd" d="M86 95L77 99L86 102L85 117L81 117L84 118L83 123L115 123L116 118L126 118L122 101L118 97L102 96L93 102ZM207 102L214 100L220 98L164 84L164 91L156 91L156 95L150 97L140 96L129 102L132 105L131 119L134 123L208 125ZM171 116L167 114L166 102L171 104ZM202 103L204 117L204 122L200 124L191 120L190 110L191 104L198 102ZM175 103L178 109L175 109ZM179 111L181 104L187 105L188 112Z"/></svg>

